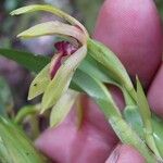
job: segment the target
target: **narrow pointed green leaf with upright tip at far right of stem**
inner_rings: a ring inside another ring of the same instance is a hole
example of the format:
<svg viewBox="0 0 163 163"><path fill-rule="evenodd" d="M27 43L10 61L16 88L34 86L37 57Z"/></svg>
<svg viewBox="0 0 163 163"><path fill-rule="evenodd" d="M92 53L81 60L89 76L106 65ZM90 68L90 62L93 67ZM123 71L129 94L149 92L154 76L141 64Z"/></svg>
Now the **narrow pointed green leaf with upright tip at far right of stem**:
<svg viewBox="0 0 163 163"><path fill-rule="evenodd" d="M140 116L143 122L143 128L145 128L143 131L145 131L145 138L147 141L147 145L155 153L155 155L161 159L161 155L158 151L158 148L155 146L155 141L152 135L153 129L152 129L152 123L151 123L150 108L149 108L146 95L143 92L142 86L138 78L137 78L137 104L138 104Z"/></svg>

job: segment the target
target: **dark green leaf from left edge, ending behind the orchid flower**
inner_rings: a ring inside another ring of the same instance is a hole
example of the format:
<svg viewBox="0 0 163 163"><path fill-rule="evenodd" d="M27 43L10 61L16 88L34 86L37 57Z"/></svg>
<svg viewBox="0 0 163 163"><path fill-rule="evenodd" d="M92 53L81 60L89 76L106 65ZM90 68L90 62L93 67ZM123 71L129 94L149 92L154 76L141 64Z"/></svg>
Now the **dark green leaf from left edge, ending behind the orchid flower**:
<svg viewBox="0 0 163 163"><path fill-rule="evenodd" d="M0 49L0 55L13 60L35 73L40 72L50 62L49 58L11 49Z"/></svg>

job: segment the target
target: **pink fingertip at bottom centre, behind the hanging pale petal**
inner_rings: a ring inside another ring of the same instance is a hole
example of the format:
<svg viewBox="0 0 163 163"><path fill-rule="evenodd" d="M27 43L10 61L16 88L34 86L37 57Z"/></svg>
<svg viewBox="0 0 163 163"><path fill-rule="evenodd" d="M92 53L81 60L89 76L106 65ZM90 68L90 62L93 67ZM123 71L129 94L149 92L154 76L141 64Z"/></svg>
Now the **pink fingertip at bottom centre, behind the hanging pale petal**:
<svg viewBox="0 0 163 163"><path fill-rule="evenodd" d="M36 146L59 163L102 163L117 138L95 102L84 100L84 122L76 125L74 110L55 129L48 129ZM91 118L93 117L93 118Z"/></svg>

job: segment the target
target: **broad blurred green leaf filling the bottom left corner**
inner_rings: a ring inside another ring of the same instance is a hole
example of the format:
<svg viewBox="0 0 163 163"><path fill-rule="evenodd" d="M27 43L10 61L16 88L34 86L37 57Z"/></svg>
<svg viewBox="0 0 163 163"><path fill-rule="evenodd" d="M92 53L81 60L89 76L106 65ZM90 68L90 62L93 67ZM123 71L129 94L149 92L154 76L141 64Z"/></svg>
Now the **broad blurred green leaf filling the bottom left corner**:
<svg viewBox="0 0 163 163"><path fill-rule="evenodd" d="M0 117L0 162L45 163L46 160L16 125Z"/></svg>

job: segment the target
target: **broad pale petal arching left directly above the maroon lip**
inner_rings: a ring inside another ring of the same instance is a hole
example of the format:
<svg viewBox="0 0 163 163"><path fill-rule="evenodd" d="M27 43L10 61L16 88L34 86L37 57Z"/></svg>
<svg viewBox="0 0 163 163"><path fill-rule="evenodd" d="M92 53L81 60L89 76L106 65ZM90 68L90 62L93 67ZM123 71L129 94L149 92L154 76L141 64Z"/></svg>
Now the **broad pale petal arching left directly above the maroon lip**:
<svg viewBox="0 0 163 163"><path fill-rule="evenodd" d="M40 37L45 35L54 35L54 34L71 36L76 38L83 43L86 42L86 37L80 29L59 21L51 21L51 22L46 22L46 23L35 25L29 29L18 34L17 37L35 38L35 37Z"/></svg>

